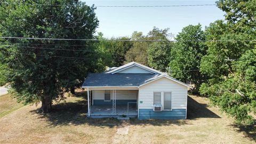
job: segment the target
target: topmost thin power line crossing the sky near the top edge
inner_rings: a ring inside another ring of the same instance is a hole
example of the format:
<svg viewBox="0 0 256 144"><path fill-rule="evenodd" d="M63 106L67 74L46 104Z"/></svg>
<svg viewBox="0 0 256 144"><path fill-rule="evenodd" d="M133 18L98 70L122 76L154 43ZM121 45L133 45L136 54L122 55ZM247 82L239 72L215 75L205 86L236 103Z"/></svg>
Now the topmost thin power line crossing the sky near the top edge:
<svg viewBox="0 0 256 144"><path fill-rule="evenodd" d="M24 5L40 5L40 6L69 6L60 4L29 4L7 2L5 4L24 4ZM95 5L95 7L182 7L182 6L216 6L216 4L189 4L189 5Z"/></svg>

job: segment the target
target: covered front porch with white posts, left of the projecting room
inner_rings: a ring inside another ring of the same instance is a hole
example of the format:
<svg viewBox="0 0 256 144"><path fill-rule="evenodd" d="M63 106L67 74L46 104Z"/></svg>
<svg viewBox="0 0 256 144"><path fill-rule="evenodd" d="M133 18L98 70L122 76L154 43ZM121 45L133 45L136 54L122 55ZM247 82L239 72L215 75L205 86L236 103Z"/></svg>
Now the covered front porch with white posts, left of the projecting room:
<svg viewBox="0 0 256 144"><path fill-rule="evenodd" d="M88 117L137 117L138 87L87 87Z"/></svg>

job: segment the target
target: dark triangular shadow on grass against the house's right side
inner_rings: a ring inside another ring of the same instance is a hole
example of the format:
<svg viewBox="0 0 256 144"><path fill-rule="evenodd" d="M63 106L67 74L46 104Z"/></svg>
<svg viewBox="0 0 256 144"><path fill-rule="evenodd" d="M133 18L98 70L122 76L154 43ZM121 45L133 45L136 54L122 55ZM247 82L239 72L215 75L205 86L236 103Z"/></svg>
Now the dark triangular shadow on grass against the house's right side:
<svg viewBox="0 0 256 144"><path fill-rule="evenodd" d="M207 104L199 103L193 98L188 96L188 110L187 118L196 119L196 118L221 118L217 114L213 113L210 109L207 108Z"/></svg>

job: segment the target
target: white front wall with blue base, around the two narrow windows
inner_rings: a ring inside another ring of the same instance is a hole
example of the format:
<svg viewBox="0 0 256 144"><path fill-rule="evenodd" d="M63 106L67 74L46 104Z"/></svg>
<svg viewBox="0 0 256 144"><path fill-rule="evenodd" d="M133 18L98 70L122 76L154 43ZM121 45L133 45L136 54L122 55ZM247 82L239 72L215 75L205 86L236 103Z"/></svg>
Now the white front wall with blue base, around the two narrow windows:
<svg viewBox="0 0 256 144"><path fill-rule="evenodd" d="M156 114L157 116L155 116L155 118L161 116L161 114L169 115L169 117L165 116L165 117L161 117L161 119L162 118L166 118L166 119L185 118L186 109L187 109L187 94L188 94L187 91L188 89L186 86L173 82L171 79L168 79L165 77L157 79L154 82L151 82L149 84L139 87L139 100L138 100L139 101L139 106L138 106L139 118L141 115L140 119L149 119L150 117L147 115L150 115L150 114L152 116ZM154 92L161 92L162 106L163 106L164 92L171 92L172 110L170 112L169 111L161 111L161 112L153 111ZM140 113L143 113L143 114L140 114ZM179 115L177 116L176 114L179 114Z"/></svg>

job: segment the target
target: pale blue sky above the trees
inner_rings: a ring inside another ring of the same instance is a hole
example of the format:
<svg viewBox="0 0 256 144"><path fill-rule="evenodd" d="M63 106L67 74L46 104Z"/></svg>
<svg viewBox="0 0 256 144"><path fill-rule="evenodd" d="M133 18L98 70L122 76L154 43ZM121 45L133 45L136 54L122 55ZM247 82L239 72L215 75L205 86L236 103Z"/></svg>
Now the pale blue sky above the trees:
<svg viewBox="0 0 256 144"><path fill-rule="evenodd" d="M215 1L85 1L86 4L97 5L189 5L215 4ZM188 25L201 23L203 28L209 23L224 19L224 12L216 6L184 6L184 7L97 7L95 10L99 19L98 32L105 37L131 36L133 31L142 31L147 34L154 26L170 28L170 33L177 35Z"/></svg>

